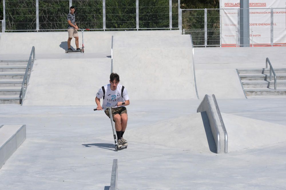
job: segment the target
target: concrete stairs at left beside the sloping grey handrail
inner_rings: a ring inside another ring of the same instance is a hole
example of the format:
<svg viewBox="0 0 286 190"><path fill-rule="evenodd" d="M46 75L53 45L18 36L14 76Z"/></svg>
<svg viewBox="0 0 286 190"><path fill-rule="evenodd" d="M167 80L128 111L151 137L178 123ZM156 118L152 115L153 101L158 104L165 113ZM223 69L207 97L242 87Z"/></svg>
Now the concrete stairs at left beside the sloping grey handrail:
<svg viewBox="0 0 286 190"><path fill-rule="evenodd" d="M0 60L0 104L21 103L27 64L28 60Z"/></svg>

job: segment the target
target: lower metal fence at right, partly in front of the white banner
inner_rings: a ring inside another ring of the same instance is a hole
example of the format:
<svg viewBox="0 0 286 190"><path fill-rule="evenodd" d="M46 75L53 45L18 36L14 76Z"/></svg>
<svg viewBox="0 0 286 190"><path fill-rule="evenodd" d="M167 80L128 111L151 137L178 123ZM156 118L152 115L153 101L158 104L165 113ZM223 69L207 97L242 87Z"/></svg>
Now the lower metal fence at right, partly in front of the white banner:
<svg viewBox="0 0 286 190"><path fill-rule="evenodd" d="M182 9L183 34L192 34L195 47L238 47L243 9ZM286 45L286 9L247 9L249 46ZM245 38L245 36L244 36Z"/></svg>

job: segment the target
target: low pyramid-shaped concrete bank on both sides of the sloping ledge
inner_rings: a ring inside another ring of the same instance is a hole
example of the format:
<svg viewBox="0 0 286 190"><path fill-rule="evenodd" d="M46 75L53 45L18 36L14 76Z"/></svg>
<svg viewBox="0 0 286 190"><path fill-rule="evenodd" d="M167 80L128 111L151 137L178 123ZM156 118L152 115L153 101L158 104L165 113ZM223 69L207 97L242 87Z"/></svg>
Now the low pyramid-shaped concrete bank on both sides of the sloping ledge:
<svg viewBox="0 0 286 190"><path fill-rule="evenodd" d="M286 141L286 126L222 113L228 134L228 152L259 148ZM205 112L126 130L130 141L190 150L216 152Z"/></svg>

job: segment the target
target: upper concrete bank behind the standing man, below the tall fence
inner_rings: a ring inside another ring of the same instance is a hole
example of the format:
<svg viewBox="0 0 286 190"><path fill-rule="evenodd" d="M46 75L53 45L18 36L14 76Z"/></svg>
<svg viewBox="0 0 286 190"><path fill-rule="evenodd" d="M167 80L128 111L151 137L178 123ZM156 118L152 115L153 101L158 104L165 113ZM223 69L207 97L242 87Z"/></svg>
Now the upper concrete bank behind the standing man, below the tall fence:
<svg viewBox="0 0 286 190"><path fill-rule="evenodd" d="M137 33L136 33L137 32ZM106 53L111 55L112 36L128 36L138 34L161 34L180 35L180 31L116 31L116 32L84 32L84 52ZM82 32L79 31L79 46L82 47ZM70 56L67 50L67 32L6 32L1 34L0 54L23 54L29 57L31 49L35 46L36 55L61 54L63 58ZM71 46L76 48L75 40L72 39ZM36 57L37 58L37 57ZM39 58L39 57L38 57ZM50 57L52 58L52 57ZM25 58L27 59L27 58Z"/></svg>

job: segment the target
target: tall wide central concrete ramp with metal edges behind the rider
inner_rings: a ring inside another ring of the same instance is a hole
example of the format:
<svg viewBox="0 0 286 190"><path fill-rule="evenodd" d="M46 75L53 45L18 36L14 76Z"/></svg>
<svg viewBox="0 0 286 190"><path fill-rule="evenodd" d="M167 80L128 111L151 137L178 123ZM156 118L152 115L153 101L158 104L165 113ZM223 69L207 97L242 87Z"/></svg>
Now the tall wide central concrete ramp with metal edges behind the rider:
<svg viewBox="0 0 286 190"><path fill-rule="evenodd" d="M197 99L189 35L114 36L113 48L130 100Z"/></svg>

